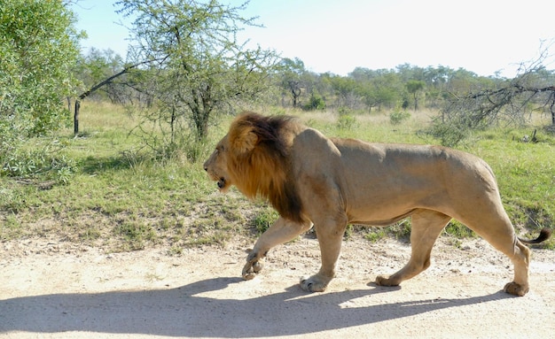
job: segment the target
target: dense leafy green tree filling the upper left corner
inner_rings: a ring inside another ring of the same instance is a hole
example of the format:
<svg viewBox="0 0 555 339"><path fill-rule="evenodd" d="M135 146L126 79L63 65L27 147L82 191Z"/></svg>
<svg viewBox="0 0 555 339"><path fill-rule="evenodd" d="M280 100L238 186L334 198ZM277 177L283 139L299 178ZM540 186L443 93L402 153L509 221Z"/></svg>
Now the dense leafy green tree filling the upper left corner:
<svg viewBox="0 0 555 339"><path fill-rule="evenodd" d="M0 5L0 158L22 137L65 126L70 72L79 55L74 13L62 1L4 0Z"/></svg>

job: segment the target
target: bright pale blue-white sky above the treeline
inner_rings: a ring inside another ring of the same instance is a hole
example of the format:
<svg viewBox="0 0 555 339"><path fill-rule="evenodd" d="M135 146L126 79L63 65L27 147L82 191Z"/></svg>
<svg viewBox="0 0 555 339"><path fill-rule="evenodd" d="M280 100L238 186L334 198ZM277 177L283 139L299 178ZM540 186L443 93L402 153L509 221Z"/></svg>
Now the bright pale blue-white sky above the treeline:
<svg viewBox="0 0 555 339"><path fill-rule="evenodd" d="M77 28L89 35L83 50L111 49L126 57L129 31L118 24L124 18L114 2L74 5ZM552 0L251 0L241 13L258 17L264 27L246 27L240 38L300 58L315 73L410 64L512 78L550 44L543 65L555 69Z"/></svg>

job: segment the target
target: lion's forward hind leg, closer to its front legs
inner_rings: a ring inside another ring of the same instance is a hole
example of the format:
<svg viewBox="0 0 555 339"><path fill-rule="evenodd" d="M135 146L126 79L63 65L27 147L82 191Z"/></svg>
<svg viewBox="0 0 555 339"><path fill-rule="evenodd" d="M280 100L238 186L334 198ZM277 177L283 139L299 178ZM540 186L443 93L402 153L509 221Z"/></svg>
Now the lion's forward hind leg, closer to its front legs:
<svg viewBox="0 0 555 339"><path fill-rule="evenodd" d="M432 210L418 210L412 214L410 231L410 260L399 272L384 277L379 275L376 284L380 286L397 286L401 281L412 278L430 266L430 254L435 240L442 233L443 227L451 217Z"/></svg>

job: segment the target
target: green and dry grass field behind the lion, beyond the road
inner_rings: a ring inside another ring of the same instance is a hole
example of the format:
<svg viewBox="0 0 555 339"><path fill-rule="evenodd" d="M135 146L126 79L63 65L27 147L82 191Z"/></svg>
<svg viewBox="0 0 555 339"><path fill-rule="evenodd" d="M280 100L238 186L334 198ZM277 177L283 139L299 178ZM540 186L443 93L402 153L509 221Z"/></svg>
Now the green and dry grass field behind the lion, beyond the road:
<svg viewBox="0 0 555 339"><path fill-rule="evenodd" d="M388 112L338 117L332 112L290 112L330 136L370 142L437 143L420 133L433 112L411 113L392 124ZM213 127L204 157L224 135L231 117ZM547 117L535 120L538 126ZM236 190L217 193L202 161L179 154L171 161L153 160L140 140L129 135L137 121L120 106L82 104L82 133L59 135L62 155L71 164L66 181L44 184L42 177L0 177L0 241L42 236L58 241L102 246L106 250L139 250L167 245L170 254L188 246L248 239L277 218L267 204L248 202ZM520 233L552 227L555 220L555 135L537 127L538 143L522 143L535 127L494 129L476 133L458 148L484 158L496 172L507 211ZM34 143L45 143L33 140ZM472 236L452 223L454 237ZM406 237L410 222L386 229L349 227L370 241L383 236ZM456 241L454 243L457 243ZM551 240L546 245L554 248Z"/></svg>

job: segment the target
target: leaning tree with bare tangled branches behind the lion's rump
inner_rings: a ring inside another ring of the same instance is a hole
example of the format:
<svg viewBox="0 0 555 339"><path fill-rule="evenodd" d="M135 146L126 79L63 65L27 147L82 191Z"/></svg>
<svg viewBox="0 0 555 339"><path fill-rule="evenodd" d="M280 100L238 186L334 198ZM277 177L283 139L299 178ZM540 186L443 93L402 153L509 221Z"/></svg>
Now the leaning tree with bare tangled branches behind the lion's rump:
<svg viewBox="0 0 555 339"><path fill-rule="evenodd" d="M472 81L457 84L454 88L459 90L449 93L442 115L434 120L429 133L439 137L444 145L453 146L473 129L499 123L524 125L530 118L528 113L548 110L551 124L555 125L555 73L542 65L545 58L546 50L528 65L521 65L513 79L473 77Z"/></svg>

